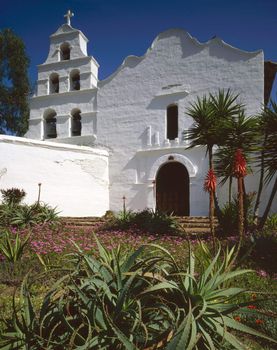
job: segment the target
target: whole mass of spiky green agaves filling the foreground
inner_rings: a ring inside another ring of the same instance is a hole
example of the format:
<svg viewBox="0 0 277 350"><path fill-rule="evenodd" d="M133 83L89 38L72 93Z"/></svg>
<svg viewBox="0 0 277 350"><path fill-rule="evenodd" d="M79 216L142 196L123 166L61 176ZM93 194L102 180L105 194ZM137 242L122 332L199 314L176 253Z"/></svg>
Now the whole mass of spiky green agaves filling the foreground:
<svg viewBox="0 0 277 350"><path fill-rule="evenodd" d="M230 330L270 340L233 318L249 304L238 303L244 290L231 287L249 272L232 269L234 250L222 255L219 248L213 256L203 245L207 259L197 275L191 250L183 267L157 245L124 255L96 241L96 255L76 246L78 253L68 257L75 268L38 310L26 277L19 305L14 300L13 316L5 321L1 349L246 349Z"/></svg>

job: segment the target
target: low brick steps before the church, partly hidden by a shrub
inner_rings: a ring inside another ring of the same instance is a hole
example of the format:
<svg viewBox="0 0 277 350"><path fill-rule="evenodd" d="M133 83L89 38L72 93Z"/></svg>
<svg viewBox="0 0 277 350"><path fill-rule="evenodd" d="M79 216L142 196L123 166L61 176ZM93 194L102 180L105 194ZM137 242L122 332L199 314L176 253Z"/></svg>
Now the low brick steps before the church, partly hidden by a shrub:
<svg viewBox="0 0 277 350"><path fill-rule="evenodd" d="M207 216L176 216L175 219L182 226L185 233L190 235L204 235L210 233L210 220ZM108 219L99 217L62 217L62 223L66 227L92 228L96 230L105 224ZM218 220L214 218L215 228Z"/></svg>

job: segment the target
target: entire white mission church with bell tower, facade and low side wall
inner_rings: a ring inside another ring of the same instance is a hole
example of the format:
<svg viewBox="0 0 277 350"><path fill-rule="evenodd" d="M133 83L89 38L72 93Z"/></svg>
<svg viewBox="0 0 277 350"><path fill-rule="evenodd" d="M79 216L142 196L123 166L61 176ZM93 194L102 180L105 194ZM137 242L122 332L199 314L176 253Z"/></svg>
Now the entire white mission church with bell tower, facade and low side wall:
<svg viewBox="0 0 277 350"><path fill-rule="evenodd" d="M203 147L186 149L192 125L186 109L197 96L230 88L248 114L258 113L276 65L264 62L263 51L242 51L219 38L199 43L171 29L100 81L88 39L71 26L71 16L50 36L48 57L38 66L25 138L0 135L0 187L24 188L33 203L41 183L41 200L64 216L119 211L123 197L131 210L208 215L208 160ZM257 181L248 176L247 191ZM218 190L222 203L225 192Z"/></svg>

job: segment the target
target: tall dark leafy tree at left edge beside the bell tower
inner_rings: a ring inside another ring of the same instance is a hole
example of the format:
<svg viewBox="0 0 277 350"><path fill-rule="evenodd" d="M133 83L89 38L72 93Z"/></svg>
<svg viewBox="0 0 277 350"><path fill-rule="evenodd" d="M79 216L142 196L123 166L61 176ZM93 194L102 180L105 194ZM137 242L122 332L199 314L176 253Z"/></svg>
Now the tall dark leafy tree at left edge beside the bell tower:
<svg viewBox="0 0 277 350"><path fill-rule="evenodd" d="M0 133L24 135L28 129L29 59L23 41L0 31Z"/></svg>

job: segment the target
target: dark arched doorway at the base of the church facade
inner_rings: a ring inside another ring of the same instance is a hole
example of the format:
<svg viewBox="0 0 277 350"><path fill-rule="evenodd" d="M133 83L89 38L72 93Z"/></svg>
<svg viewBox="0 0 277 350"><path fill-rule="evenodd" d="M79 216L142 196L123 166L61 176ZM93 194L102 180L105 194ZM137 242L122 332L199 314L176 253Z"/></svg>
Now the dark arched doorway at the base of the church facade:
<svg viewBox="0 0 277 350"><path fill-rule="evenodd" d="M189 215L189 174L183 164L170 162L159 169L156 209L177 216Z"/></svg>

